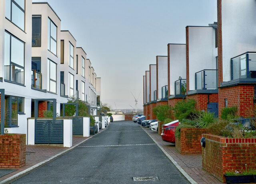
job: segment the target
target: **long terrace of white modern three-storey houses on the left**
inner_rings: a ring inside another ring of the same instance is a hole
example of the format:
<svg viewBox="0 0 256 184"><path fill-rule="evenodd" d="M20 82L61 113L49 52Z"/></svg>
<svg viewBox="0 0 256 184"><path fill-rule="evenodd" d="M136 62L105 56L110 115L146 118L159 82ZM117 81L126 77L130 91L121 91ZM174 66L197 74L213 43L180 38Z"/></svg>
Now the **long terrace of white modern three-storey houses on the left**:
<svg viewBox="0 0 256 184"><path fill-rule="evenodd" d="M100 78L73 35L61 31L61 20L47 2L0 1L0 43L0 89L5 94L0 96L0 120L9 133L27 133L36 99L37 117L51 110L53 99L62 114L62 104L73 96L88 101L96 115Z"/></svg>

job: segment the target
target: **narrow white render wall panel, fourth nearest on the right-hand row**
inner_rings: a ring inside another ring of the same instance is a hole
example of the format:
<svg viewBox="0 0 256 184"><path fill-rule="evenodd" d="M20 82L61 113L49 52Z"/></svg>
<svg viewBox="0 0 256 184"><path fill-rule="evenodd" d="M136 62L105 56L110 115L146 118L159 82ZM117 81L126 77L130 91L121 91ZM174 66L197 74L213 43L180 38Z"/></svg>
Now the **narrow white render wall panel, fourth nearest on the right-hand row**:
<svg viewBox="0 0 256 184"><path fill-rule="evenodd" d="M158 57L158 99L162 98L162 87L168 85L168 57L167 56L157 56Z"/></svg>

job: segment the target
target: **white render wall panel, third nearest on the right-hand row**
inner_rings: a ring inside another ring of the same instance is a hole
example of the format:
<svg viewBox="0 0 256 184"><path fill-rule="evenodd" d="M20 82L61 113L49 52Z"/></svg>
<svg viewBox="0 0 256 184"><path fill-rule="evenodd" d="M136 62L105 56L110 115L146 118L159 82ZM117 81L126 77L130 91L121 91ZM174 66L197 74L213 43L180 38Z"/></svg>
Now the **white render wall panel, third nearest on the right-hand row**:
<svg viewBox="0 0 256 184"><path fill-rule="evenodd" d="M175 94L175 81L186 79L186 44L169 44L170 48L170 95Z"/></svg>

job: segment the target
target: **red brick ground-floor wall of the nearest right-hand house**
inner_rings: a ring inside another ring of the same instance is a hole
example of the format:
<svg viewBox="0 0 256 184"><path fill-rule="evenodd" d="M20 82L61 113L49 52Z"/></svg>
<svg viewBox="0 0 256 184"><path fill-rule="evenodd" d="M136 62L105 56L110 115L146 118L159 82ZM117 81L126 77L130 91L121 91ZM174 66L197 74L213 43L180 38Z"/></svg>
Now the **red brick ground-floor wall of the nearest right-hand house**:
<svg viewBox="0 0 256 184"><path fill-rule="evenodd" d="M219 88L219 117L221 110L225 107L224 99L228 100L228 107L237 106L238 116L253 116L249 114L254 108L253 96L254 86L232 86L227 88Z"/></svg>

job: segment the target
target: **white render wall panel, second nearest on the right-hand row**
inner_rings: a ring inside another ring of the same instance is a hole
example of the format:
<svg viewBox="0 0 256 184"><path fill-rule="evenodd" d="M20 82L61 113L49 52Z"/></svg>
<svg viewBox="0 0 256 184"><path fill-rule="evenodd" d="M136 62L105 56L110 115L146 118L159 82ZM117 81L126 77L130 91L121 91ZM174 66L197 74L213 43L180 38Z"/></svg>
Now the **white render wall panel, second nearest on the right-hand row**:
<svg viewBox="0 0 256 184"><path fill-rule="evenodd" d="M204 69L216 69L215 29L189 27L188 30L189 90L195 90L195 73Z"/></svg>

